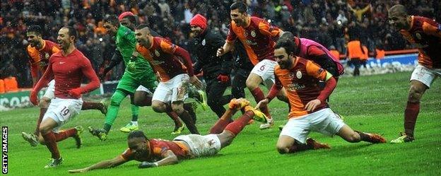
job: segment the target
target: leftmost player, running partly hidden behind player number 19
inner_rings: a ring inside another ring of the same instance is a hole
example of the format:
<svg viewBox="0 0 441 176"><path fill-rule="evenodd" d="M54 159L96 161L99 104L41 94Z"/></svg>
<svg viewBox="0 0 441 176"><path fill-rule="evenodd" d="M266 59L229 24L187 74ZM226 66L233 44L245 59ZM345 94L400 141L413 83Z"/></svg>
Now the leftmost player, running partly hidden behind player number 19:
<svg viewBox="0 0 441 176"><path fill-rule="evenodd" d="M28 30L26 31L26 35L28 36L29 42L27 51L30 57L30 73L33 78L33 85L35 86L38 81L39 72L40 74L43 74L47 69L47 66L49 64L49 57L51 57L52 54L59 52L60 49L56 43L50 40L42 39L42 29L38 25L30 25ZM40 99L40 116L37 119L37 127L35 128L34 133L21 133L23 139L28 141L30 143L30 146L37 146L38 141L42 141L42 136L39 131L40 124L42 122L43 116L47 112L49 103L55 98L54 86L55 81L50 81L45 94ZM107 107L103 102L83 102L81 110L100 110L102 114L107 113Z"/></svg>

